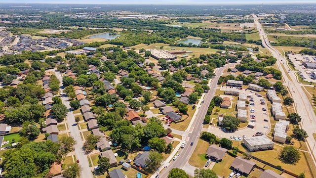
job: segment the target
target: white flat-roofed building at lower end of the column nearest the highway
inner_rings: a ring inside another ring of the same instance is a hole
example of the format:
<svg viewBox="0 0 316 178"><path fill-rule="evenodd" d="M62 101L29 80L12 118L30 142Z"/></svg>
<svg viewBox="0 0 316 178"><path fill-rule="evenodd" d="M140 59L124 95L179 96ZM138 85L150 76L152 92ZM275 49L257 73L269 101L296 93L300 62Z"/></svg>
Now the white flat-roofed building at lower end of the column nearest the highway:
<svg viewBox="0 0 316 178"><path fill-rule="evenodd" d="M284 143L289 124L289 121L279 120L273 130L273 140Z"/></svg>

